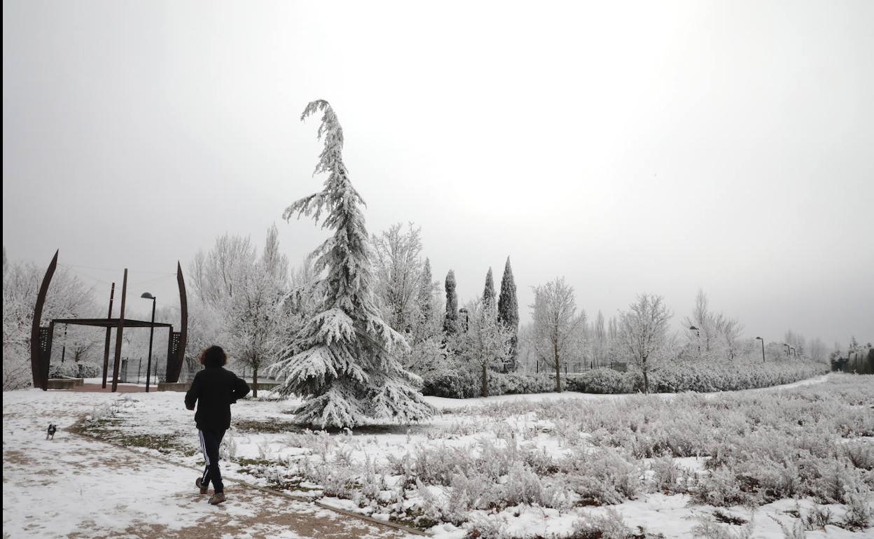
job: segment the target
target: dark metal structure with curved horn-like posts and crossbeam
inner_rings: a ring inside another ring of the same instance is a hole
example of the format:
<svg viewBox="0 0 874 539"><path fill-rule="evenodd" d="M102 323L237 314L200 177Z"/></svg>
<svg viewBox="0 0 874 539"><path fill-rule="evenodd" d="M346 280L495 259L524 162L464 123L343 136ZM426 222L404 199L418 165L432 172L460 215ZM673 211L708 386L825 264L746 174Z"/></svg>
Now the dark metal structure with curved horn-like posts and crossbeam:
<svg viewBox="0 0 874 539"><path fill-rule="evenodd" d="M177 382L179 375L182 372L182 364L185 357L185 344L188 341L188 298L185 294L185 281L182 276L182 264L177 261L177 283L179 285L179 307L180 307L180 331L173 331L173 326L161 322L149 322L138 320L127 320L124 318L124 303L127 292L128 270L124 270L124 283L122 284L121 292L121 315L119 318L112 318L112 304L114 300L115 283L112 285L112 292L109 296L109 312L106 318L87 318L87 319L58 319L52 320L47 327L40 326L42 320L43 308L45 307L45 296L48 294L49 286L52 284L52 276L58 268L58 251L55 251L51 264L45 271L42 285L39 287L37 295L37 304L33 308L33 326L31 328L31 370L33 375L33 387L38 387L42 390L48 389L49 379L49 361L52 357L52 335L54 333L55 323L75 324L80 326L92 326L97 328L106 328L107 340L104 349L103 358L103 388L106 388L107 371L109 363L109 335L112 328L116 328L116 345L113 364L113 381L112 390L115 391L118 386L118 370L121 361L121 335L124 328L169 328L170 336L168 338L167 347L167 371L166 380L168 382Z"/></svg>

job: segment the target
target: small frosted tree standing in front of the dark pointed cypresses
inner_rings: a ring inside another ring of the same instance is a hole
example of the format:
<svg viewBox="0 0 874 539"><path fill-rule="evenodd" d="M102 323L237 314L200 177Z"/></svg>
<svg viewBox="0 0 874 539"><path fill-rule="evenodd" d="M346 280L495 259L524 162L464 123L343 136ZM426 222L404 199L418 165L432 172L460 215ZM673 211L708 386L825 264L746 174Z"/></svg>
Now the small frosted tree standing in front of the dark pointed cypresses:
<svg viewBox="0 0 874 539"><path fill-rule="evenodd" d="M467 330L454 335L449 348L480 375L480 395L489 397L489 371L503 370L510 356L510 330L497 320L495 308L482 301L468 304Z"/></svg>

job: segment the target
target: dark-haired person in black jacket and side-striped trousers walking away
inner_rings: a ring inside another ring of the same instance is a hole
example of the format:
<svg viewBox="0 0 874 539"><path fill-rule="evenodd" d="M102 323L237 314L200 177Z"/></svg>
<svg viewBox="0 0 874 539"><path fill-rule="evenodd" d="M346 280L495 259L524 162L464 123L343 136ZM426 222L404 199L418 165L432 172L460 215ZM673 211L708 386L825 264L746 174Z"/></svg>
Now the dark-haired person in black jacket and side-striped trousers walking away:
<svg viewBox="0 0 874 539"><path fill-rule="evenodd" d="M198 425L200 449L204 452L206 466L204 473L194 481L200 494L208 492L212 481L213 494L209 502L218 505L225 501L225 484L218 470L218 446L231 426L231 404L246 397L249 384L230 370L225 370L227 356L220 346L211 346L200 353L200 363L205 369L199 370L185 393L185 408L198 411L194 421Z"/></svg>

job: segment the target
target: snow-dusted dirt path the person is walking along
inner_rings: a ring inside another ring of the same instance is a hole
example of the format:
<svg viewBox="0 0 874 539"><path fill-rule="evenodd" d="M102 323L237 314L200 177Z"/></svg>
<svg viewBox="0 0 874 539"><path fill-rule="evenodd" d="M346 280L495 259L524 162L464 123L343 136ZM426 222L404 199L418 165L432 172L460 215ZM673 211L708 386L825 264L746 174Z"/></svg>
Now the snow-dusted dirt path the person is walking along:
<svg viewBox="0 0 874 539"><path fill-rule="evenodd" d="M3 537L394 537L405 534L312 503L229 482L213 507L196 472L66 432L113 395L3 395ZM59 425L45 439L49 422Z"/></svg>

